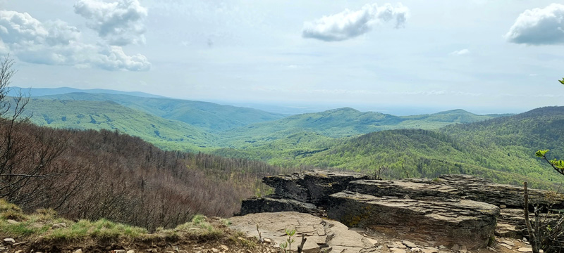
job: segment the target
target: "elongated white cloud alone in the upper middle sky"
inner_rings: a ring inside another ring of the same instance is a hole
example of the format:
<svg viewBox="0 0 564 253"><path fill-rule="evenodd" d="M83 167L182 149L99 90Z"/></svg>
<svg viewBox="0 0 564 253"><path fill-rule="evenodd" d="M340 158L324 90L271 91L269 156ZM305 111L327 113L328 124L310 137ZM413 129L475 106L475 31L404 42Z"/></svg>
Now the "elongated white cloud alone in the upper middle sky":
<svg viewBox="0 0 564 253"><path fill-rule="evenodd" d="M395 20L395 27L405 25L409 9L402 4L392 6L367 4L358 11L345 9L341 13L323 16L312 22L305 22L302 37L322 41L343 41L369 32L375 25Z"/></svg>

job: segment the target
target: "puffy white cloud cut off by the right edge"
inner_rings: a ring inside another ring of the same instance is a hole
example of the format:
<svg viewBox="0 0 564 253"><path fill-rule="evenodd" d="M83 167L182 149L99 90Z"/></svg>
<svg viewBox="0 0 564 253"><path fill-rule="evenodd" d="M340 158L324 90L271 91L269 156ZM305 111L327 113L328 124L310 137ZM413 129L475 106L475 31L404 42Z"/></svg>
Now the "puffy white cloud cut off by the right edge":
<svg viewBox="0 0 564 253"><path fill-rule="evenodd" d="M521 13L505 34L516 44L564 44L564 4L551 4Z"/></svg>

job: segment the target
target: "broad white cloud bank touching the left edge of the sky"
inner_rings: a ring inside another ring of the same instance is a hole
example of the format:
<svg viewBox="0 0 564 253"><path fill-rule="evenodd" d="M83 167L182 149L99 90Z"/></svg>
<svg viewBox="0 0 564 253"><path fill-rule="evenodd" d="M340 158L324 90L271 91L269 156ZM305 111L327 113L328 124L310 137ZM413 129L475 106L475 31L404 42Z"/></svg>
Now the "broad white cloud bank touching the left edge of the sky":
<svg viewBox="0 0 564 253"><path fill-rule="evenodd" d="M0 11L1 51L37 64L131 71L151 67L145 56L127 56L119 46L82 43L78 28L66 22L40 22L28 13L16 11Z"/></svg>

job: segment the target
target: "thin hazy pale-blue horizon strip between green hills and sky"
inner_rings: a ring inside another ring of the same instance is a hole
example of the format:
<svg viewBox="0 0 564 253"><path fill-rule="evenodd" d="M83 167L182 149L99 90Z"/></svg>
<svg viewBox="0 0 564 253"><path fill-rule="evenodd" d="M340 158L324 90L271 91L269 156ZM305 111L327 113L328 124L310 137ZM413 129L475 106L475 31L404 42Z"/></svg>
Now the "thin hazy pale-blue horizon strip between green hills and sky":
<svg viewBox="0 0 564 253"><path fill-rule="evenodd" d="M257 110L263 110L266 112L274 112L280 113L285 115L298 115L304 113L314 113L314 112L324 112L326 110L333 110L339 108L353 108L360 112L380 112L389 115L396 115L396 116L409 116L409 115L424 115L424 114L434 114L438 112L444 112L448 110L465 110L467 112L471 112L475 115L490 115L490 114L519 114L522 112L527 112L529 110L534 110L536 108L500 108L500 109L488 109L488 108L448 108L447 106L441 107L426 107L426 106L398 106L398 105L370 105L370 104L354 104L354 103L307 103L307 102L293 102L293 103L280 103L280 102L268 102L268 101L238 101L238 100L203 100L203 99L188 99L188 98L173 98L168 96L161 96L159 94L154 93L147 93L144 91L121 91L116 89L79 89L73 88L69 86L61 86L61 87L41 87L41 88L32 88L32 87L20 87L20 86L11 86L13 89L41 89L41 90L56 90L56 89L73 89L78 91L95 91L95 90L106 90L106 91L114 91L116 93L124 93L125 95L135 96L132 95L134 93L144 93L149 96L154 96L155 98L171 98L171 99L180 99L180 100L193 100L193 101L201 101L201 102L209 102L209 103L216 103L221 105L233 105L238 107L244 108L254 108ZM63 93L50 93L52 95L56 94L63 94ZM31 94L31 96L34 96ZM39 95L39 96L49 96L47 95ZM37 96L37 97L39 97ZM548 106L558 106L558 105L544 105L541 107L548 107ZM537 107L537 108L541 108Z"/></svg>

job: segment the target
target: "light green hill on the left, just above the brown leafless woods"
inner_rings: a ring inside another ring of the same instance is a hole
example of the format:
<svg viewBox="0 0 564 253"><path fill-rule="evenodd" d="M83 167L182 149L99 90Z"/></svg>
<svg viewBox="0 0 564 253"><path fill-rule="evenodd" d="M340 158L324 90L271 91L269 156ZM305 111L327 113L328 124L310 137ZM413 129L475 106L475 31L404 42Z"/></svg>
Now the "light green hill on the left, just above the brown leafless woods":
<svg viewBox="0 0 564 253"><path fill-rule="evenodd" d="M118 129L166 149L201 150L216 136L172 119L164 119L110 101L32 99L27 115L39 126L65 129Z"/></svg>

